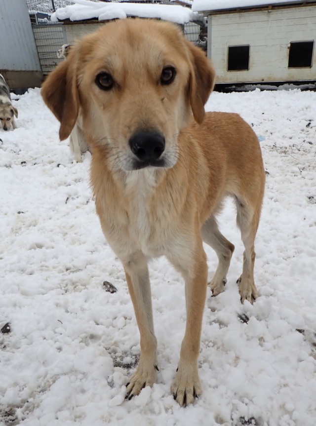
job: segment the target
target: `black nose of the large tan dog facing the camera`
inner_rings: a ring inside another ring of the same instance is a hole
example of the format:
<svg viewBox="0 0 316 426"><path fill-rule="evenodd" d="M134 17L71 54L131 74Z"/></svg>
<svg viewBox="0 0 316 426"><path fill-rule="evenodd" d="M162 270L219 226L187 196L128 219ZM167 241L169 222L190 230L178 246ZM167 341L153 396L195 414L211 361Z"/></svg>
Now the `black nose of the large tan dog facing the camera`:
<svg viewBox="0 0 316 426"><path fill-rule="evenodd" d="M154 131L139 131L129 140L133 154L141 161L158 160L164 151L164 137Z"/></svg>

